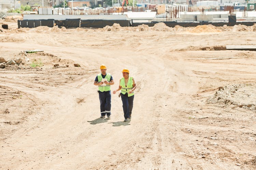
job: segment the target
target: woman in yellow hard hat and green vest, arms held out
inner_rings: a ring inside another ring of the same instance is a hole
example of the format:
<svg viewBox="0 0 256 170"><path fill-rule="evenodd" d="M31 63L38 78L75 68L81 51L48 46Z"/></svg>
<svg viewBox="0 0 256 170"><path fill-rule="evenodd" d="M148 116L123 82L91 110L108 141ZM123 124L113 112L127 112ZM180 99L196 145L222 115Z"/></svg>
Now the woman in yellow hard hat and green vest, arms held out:
<svg viewBox="0 0 256 170"><path fill-rule="evenodd" d="M118 89L113 91L113 94L116 94L117 91L121 90L121 98L123 102L123 110L125 122L128 121L128 118L131 119L131 112L133 108L133 99L134 99L134 90L136 89L136 83L133 77L129 76L129 70L123 69L123 78L119 81Z"/></svg>

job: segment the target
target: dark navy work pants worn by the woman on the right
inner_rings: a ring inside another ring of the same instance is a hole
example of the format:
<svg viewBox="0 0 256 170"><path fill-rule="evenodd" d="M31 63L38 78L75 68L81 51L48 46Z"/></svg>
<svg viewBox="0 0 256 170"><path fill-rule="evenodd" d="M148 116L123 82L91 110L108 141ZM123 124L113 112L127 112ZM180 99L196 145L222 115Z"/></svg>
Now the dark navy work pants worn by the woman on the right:
<svg viewBox="0 0 256 170"><path fill-rule="evenodd" d="M127 118L129 118L132 108L133 108L134 95L128 97L127 93L125 95L123 95L121 93L121 98L122 98L122 102L123 102L124 117L125 117L125 119L127 119Z"/></svg>

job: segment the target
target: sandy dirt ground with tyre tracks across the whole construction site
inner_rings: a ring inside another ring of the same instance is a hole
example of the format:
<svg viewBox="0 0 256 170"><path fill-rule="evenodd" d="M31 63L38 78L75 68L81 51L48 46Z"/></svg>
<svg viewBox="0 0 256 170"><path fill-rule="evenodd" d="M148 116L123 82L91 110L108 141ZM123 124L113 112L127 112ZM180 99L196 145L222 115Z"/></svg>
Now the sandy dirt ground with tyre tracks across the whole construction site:
<svg viewBox="0 0 256 170"><path fill-rule="evenodd" d="M0 69L0 169L256 169L256 52L225 49L255 45L255 26L0 23L0 57L23 60ZM99 118L101 64L112 91L123 68L136 81L128 122L113 94Z"/></svg>

